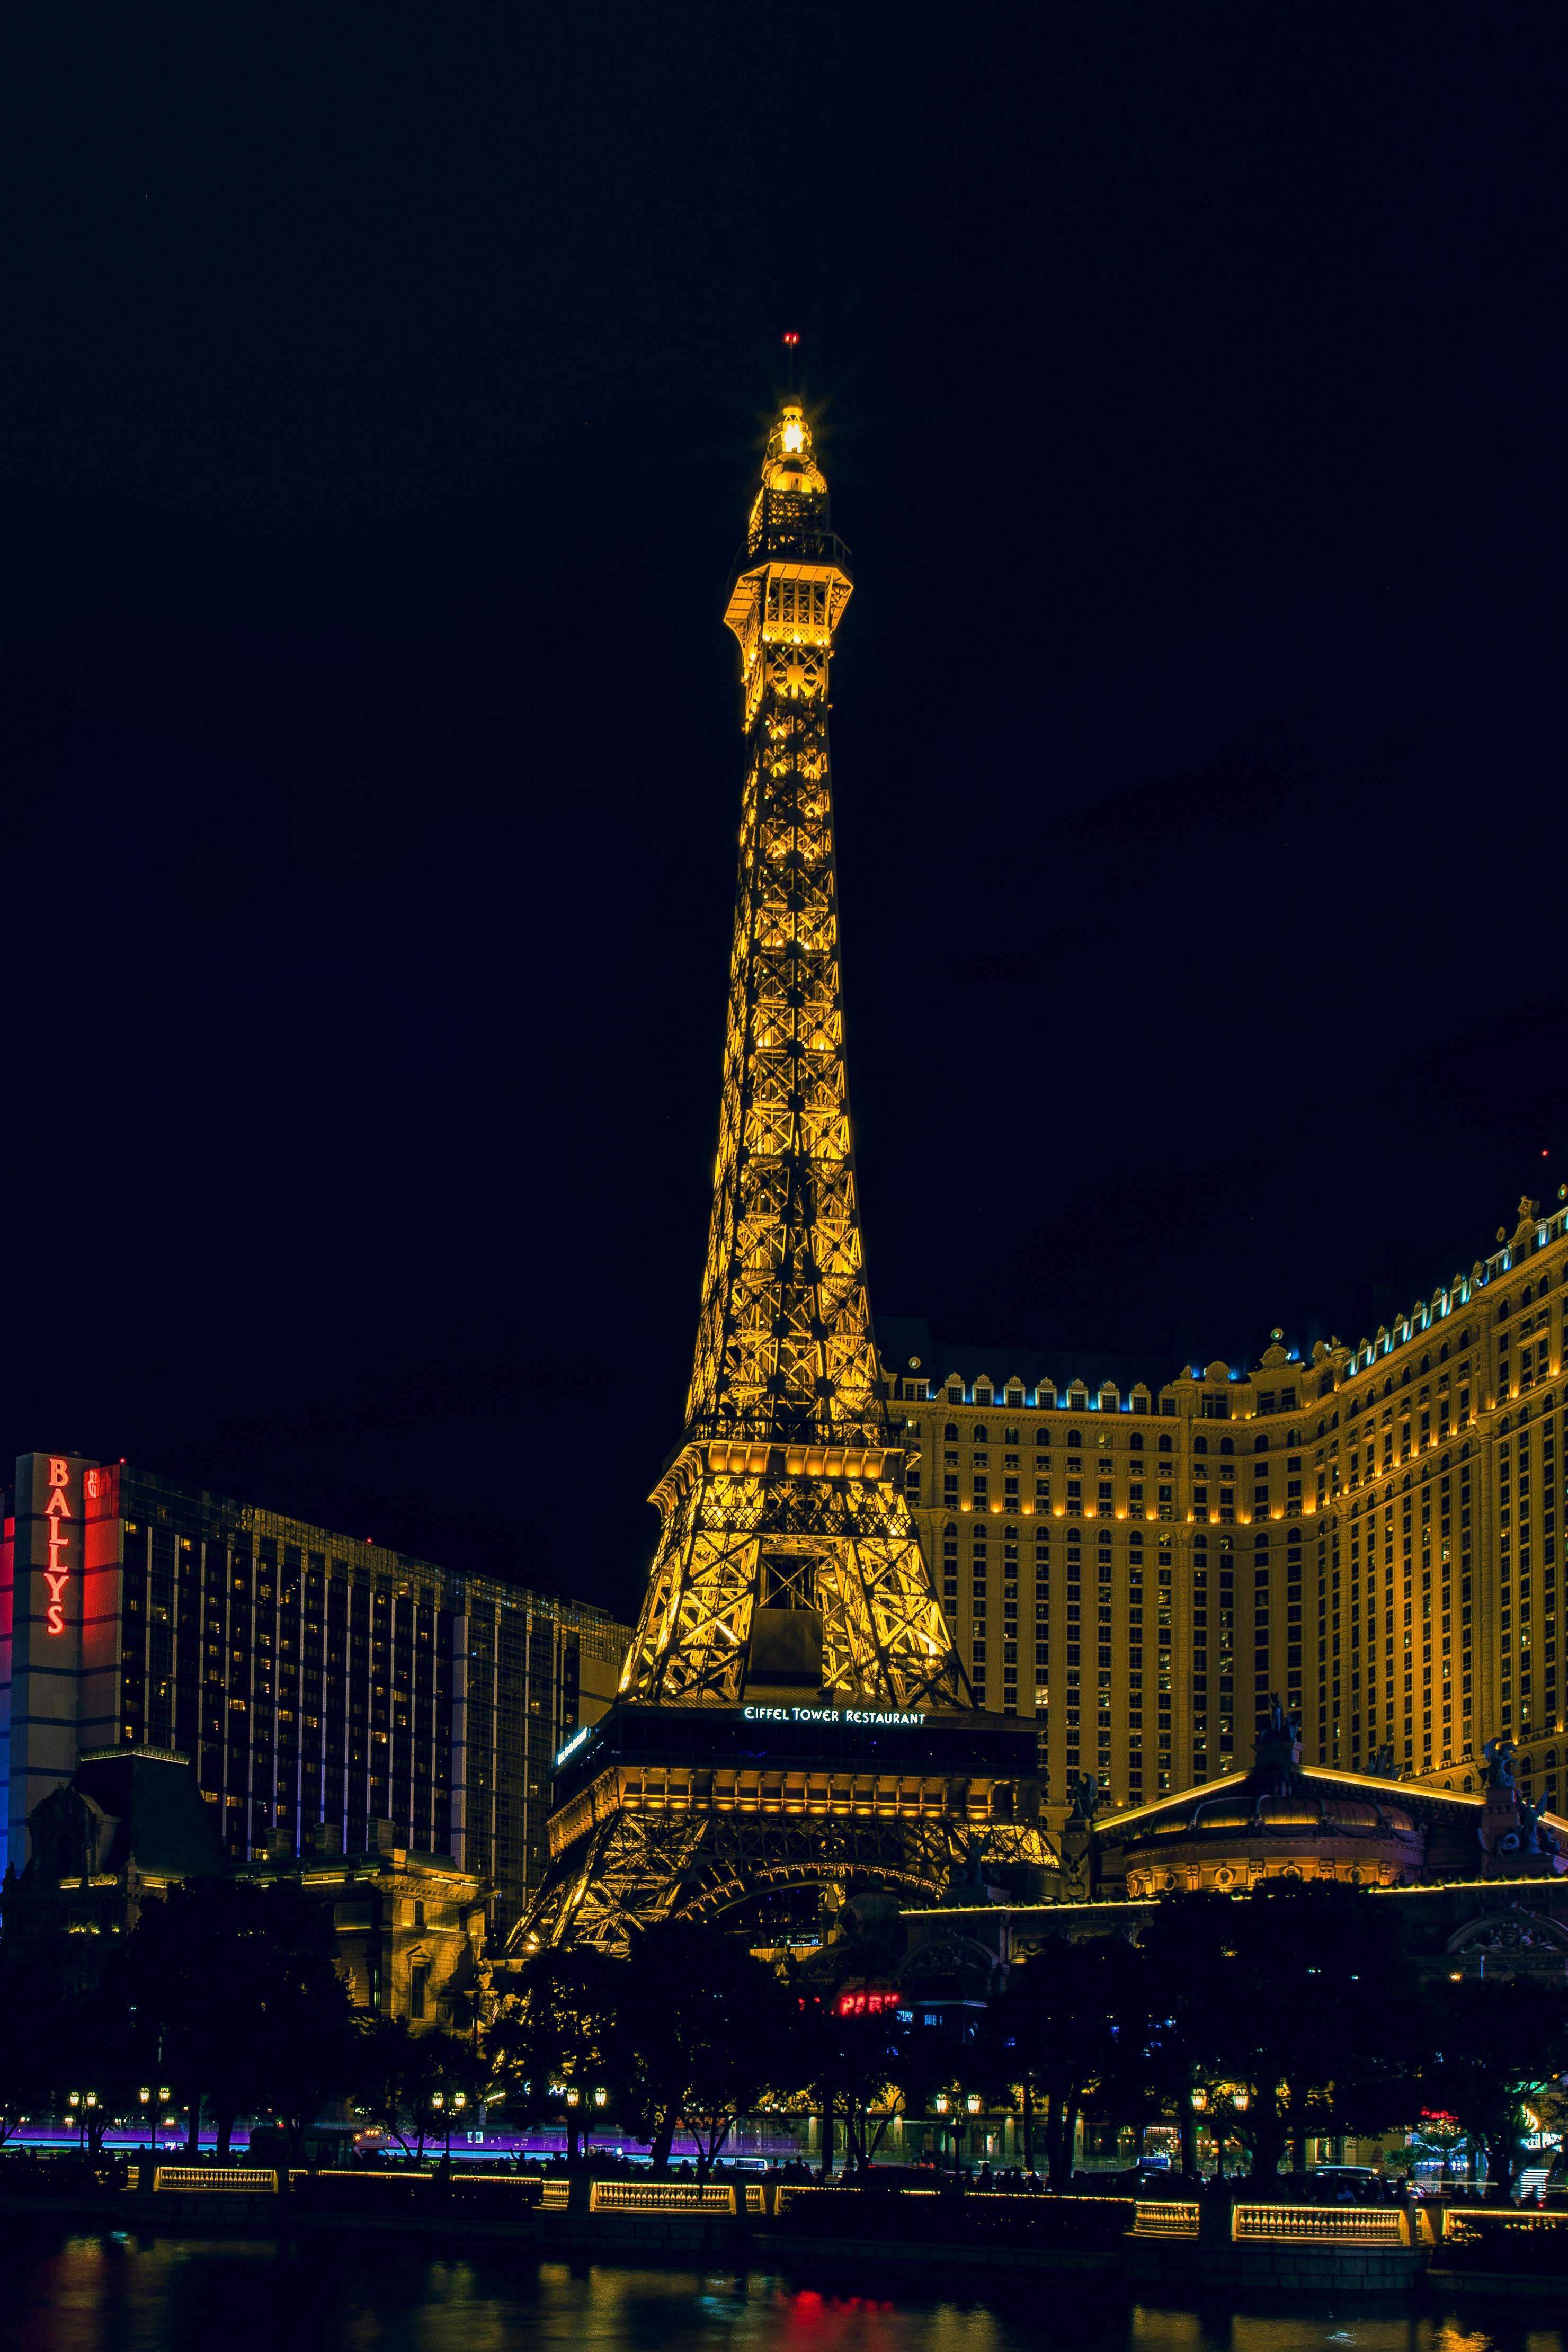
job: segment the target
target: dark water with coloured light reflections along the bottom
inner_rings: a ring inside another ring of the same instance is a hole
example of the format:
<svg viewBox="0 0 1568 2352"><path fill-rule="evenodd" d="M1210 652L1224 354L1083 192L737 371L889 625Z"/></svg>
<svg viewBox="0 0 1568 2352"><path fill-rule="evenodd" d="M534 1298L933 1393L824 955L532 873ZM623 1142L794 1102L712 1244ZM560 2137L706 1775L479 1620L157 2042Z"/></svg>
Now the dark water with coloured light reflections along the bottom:
<svg viewBox="0 0 1568 2352"><path fill-rule="evenodd" d="M1051 2272L851 2293L797 2274L618 2270L237 2239L0 2239L0 2352L1568 2352L1507 2310L1138 2303Z"/></svg>

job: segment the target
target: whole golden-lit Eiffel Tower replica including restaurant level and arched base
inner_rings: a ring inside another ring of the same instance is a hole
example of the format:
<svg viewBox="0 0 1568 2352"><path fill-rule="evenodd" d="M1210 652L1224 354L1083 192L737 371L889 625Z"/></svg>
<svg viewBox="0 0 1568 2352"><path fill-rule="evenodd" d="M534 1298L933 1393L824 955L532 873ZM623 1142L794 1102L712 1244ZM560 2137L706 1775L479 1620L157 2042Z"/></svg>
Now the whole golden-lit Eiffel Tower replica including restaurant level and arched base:
<svg viewBox="0 0 1568 2352"><path fill-rule="evenodd" d="M663 1917L785 1940L851 1889L936 1900L980 1839L1048 1863L1032 1731L976 1710L919 1550L865 1296L827 764L849 595L785 400L724 614L745 793L686 1425L621 1693L557 1759L515 1952L623 1950Z"/></svg>

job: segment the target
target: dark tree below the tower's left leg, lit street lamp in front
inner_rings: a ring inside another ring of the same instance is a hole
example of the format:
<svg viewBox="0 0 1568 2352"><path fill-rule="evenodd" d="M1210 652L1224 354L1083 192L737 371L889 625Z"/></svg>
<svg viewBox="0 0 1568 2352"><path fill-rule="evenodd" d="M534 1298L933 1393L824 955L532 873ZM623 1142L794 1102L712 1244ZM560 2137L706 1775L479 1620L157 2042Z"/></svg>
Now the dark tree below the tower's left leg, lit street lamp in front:
<svg viewBox="0 0 1568 2352"><path fill-rule="evenodd" d="M567 2161L597 2093L621 2079L628 1964L595 1945L536 1952L484 2034L491 2079L520 2124L567 2122ZM567 2093L576 2093L569 2098Z"/></svg>

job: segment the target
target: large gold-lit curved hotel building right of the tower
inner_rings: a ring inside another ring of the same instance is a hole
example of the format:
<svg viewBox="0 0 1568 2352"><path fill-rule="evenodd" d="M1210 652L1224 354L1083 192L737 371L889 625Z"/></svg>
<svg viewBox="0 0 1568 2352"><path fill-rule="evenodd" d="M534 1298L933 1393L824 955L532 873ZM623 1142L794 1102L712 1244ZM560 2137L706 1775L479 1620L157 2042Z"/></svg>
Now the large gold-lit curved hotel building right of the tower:
<svg viewBox="0 0 1568 2352"><path fill-rule="evenodd" d="M1126 1806L1248 1764L1274 1691L1307 1762L1472 1788L1507 1731L1561 1802L1566 1225L1521 1202L1375 1338L1253 1371L882 1319L947 1623L976 1698L1039 1722L1056 1806L1079 1771Z"/></svg>

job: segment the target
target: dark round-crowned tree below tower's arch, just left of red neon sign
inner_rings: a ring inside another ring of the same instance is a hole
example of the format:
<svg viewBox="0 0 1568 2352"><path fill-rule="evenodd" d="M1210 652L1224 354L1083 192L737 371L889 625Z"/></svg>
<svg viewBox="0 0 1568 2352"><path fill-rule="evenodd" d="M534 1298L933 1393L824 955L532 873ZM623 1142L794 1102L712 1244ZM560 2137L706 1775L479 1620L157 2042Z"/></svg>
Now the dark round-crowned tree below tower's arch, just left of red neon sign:
<svg viewBox="0 0 1568 2352"><path fill-rule="evenodd" d="M677 2124L698 2143L698 2178L736 2114L773 2084L790 2034L790 1997L766 1962L712 1926L644 1929L625 1962L623 2100L656 2166Z"/></svg>

